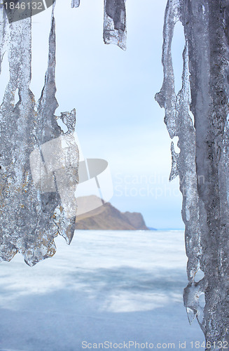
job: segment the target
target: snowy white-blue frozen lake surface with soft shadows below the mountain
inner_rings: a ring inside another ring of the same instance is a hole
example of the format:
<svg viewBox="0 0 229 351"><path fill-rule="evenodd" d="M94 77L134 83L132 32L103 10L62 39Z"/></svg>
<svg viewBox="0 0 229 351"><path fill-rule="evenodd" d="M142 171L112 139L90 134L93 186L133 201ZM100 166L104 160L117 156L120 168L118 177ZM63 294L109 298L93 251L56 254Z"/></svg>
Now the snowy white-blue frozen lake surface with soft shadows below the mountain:
<svg viewBox="0 0 229 351"><path fill-rule="evenodd" d="M70 246L55 242L34 267L20 255L0 264L0 351L204 350L183 307L183 232L79 230Z"/></svg>

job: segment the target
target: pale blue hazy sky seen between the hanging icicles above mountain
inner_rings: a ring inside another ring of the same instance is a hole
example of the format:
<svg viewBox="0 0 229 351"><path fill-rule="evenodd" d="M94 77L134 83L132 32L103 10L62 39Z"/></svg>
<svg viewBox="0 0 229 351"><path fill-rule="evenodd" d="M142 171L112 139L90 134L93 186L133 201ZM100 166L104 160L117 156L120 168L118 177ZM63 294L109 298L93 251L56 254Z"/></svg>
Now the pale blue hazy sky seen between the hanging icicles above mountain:
<svg viewBox="0 0 229 351"><path fill-rule="evenodd" d="M87 158L106 159L120 211L141 212L146 225L182 228L178 181L168 182L171 156L164 111L154 100L162 85L165 0L127 0L127 50L104 45L103 0L57 0L56 114L76 108L76 132ZM41 94L51 9L33 20L32 91ZM173 58L180 88L183 33L177 25Z"/></svg>

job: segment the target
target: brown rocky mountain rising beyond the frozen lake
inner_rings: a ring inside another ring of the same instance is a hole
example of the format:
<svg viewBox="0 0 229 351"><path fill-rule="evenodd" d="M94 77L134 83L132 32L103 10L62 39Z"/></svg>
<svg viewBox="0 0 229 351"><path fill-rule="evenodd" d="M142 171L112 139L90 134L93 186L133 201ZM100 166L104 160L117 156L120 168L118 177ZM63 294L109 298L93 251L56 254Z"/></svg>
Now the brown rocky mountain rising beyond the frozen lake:
<svg viewBox="0 0 229 351"><path fill-rule="evenodd" d="M78 198L82 204L98 203L98 197ZM78 230L148 230L141 213L120 212L109 202L88 213L76 216L76 229Z"/></svg>

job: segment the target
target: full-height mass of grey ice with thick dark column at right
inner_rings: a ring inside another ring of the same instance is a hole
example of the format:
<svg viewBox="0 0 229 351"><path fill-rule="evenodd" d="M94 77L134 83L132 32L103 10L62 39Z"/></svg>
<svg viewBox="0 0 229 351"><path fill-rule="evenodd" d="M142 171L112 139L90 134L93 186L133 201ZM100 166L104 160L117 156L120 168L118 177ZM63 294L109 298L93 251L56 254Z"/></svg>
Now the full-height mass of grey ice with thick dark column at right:
<svg viewBox="0 0 229 351"><path fill-rule="evenodd" d="M183 25L186 45L182 88L176 95L171 45L177 21ZM170 138L179 137L179 154L171 144L170 180L179 176L183 194L188 256L183 300L189 321L197 317L204 332L206 350L229 350L228 25L228 0L169 0L164 81L155 96L165 108ZM199 280L200 271L204 277Z"/></svg>

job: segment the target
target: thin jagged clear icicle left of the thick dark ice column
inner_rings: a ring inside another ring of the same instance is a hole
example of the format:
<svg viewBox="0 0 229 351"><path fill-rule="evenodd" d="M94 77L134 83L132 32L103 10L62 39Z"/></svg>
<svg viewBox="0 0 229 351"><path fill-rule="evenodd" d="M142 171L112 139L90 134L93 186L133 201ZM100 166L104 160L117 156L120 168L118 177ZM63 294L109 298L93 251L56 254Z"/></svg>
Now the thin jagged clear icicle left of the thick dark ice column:
<svg viewBox="0 0 229 351"><path fill-rule="evenodd" d="M160 93L155 95L161 107L165 107L165 124L170 138L179 137L180 153L176 154L174 143L171 144L172 171L169 180L179 175L180 190L183 194L182 217L186 225L186 252L188 255L188 279L190 289L184 295L188 319L191 322L198 313L197 302L193 305L190 291L195 288L193 267L199 265L200 251L200 208L197 194L197 176L195 168L195 129L188 114L190 100L188 43L183 51L182 88L176 95L174 91L174 71L172 67L172 37L174 26L181 16L179 1L169 0L165 13L164 44L162 64L164 81ZM200 314L200 313L199 313ZM200 318L202 319L202 318Z"/></svg>

